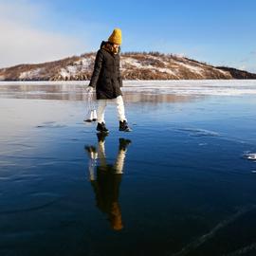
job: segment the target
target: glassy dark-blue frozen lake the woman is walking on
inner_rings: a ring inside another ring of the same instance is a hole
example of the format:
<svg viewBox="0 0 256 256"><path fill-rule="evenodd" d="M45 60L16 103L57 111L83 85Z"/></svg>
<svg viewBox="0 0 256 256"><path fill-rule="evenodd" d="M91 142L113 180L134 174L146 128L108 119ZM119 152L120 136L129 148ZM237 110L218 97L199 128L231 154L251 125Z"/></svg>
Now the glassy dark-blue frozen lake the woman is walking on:
<svg viewBox="0 0 256 256"><path fill-rule="evenodd" d="M124 82L104 143L84 84L0 82L1 256L256 255L256 81Z"/></svg>

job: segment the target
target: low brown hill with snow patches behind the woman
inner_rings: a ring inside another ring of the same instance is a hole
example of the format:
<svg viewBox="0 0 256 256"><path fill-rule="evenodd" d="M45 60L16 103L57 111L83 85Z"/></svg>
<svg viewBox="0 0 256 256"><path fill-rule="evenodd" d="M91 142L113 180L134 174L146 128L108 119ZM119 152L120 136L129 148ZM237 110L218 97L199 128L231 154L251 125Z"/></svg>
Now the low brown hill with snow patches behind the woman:
<svg viewBox="0 0 256 256"><path fill-rule="evenodd" d="M95 53L45 64L20 64L0 69L1 81L81 81L92 74ZM235 72L234 72L235 70ZM124 80L256 79L255 74L158 52L121 54Z"/></svg>

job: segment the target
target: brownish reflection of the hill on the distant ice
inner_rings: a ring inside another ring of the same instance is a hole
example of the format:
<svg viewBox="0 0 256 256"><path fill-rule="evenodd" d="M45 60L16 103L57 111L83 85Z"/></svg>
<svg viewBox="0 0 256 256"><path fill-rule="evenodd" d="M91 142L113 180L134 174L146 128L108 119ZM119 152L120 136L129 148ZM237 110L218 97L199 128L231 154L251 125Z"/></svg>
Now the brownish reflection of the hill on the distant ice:
<svg viewBox="0 0 256 256"><path fill-rule="evenodd" d="M123 87L125 101L133 102L176 102L190 101L191 96L173 94L172 91L163 93L151 90L140 82L138 87L130 87L129 83ZM140 87L142 85L142 87ZM156 88L157 88L156 84ZM11 99L38 99L38 100L61 100L61 101L86 101L88 98L84 90L84 83L56 83L56 82L34 82L19 83L13 85L11 82L0 82L0 97Z"/></svg>

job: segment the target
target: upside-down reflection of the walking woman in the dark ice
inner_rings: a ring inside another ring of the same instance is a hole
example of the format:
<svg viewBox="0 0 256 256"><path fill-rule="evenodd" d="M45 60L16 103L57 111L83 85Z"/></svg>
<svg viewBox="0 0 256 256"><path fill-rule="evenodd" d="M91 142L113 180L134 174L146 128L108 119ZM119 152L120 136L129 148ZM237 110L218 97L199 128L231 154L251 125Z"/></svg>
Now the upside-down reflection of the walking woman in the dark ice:
<svg viewBox="0 0 256 256"><path fill-rule="evenodd" d="M93 146L86 146L89 155L90 182L96 194L97 207L107 213L112 229L123 228L121 210L119 207L119 185L123 171L127 146L131 140L119 138L119 154L115 164L108 164L104 147L105 135L98 134L98 150ZM96 164L99 159L99 165ZM95 167L97 174L95 177Z"/></svg>

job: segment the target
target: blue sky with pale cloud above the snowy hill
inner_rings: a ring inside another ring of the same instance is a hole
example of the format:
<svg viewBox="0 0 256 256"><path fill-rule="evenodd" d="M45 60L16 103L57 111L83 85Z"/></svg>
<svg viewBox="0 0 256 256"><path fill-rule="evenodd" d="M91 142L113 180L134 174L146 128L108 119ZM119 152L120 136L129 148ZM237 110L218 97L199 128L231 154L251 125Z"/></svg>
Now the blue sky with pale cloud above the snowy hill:
<svg viewBox="0 0 256 256"><path fill-rule="evenodd" d="M254 0L0 0L0 66L94 51L120 27L122 51L182 54L256 72L255 9Z"/></svg>

